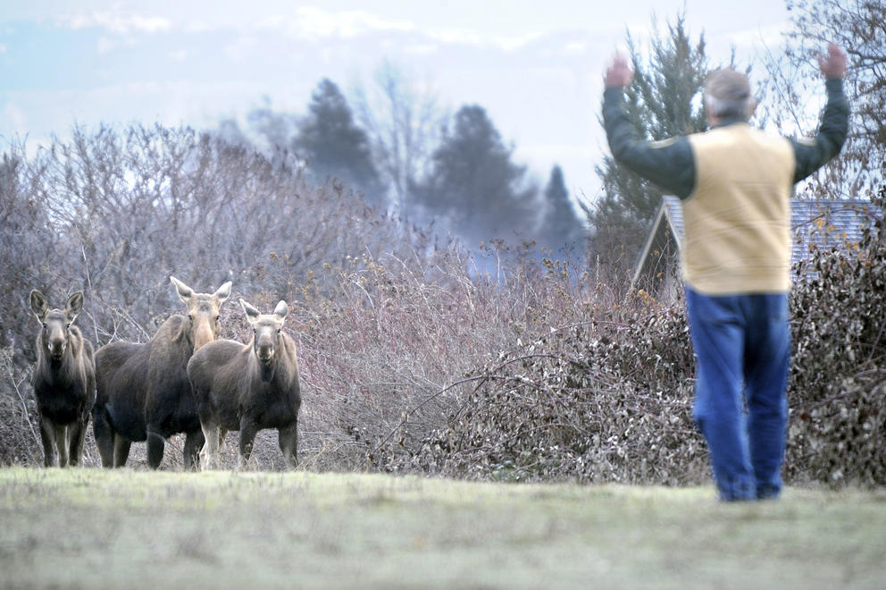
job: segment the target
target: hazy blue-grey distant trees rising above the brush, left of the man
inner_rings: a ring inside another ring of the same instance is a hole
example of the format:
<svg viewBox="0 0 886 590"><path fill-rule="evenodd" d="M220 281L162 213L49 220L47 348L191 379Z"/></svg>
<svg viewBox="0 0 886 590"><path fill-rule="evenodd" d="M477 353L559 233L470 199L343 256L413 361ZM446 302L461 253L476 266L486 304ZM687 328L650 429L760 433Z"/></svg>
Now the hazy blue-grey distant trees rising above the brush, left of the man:
<svg viewBox="0 0 886 590"><path fill-rule="evenodd" d="M282 147L297 156L313 181L337 178L372 206L396 211L441 237L481 242L533 242L548 256L583 257L584 215L573 206L563 171L554 165L539 189L481 105L464 105L452 117L418 97L410 80L389 64L374 103L357 92L356 112L339 87L321 80L304 115L270 105L247 115L247 130L222 122L227 139ZM359 119L359 121L358 121Z"/></svg>

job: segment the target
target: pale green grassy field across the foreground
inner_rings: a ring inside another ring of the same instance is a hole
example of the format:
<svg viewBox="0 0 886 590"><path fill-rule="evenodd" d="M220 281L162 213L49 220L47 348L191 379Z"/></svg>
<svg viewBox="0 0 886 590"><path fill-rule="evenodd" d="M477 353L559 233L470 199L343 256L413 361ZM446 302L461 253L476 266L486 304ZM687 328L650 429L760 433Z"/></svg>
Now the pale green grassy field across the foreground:
<svg viewBox="0 0 886 590"><path fill-rule="evenodd" d="M886 493L0 469L0 587L882 588Z"/></svg>

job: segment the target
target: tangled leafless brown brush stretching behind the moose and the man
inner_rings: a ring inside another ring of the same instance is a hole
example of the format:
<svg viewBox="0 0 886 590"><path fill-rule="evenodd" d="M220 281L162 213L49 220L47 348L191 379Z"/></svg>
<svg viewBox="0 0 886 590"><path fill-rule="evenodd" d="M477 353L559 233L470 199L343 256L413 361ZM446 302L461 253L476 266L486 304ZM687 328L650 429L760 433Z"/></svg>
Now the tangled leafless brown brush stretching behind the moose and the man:
<svg viewBox="0 0 886 590"><path fill-rule="evenodd" d="M707 481L681 300L531 245L495 241L469 257L335 182L310 185L286 155L269 161L189 130L80 132L31 159L5 154L0 174L0 464L42 453L30 289L54 302L84 289L78 323L96 345L144 341L180 310L175 274L203 290L232 280L233 300L266 310L288 301L310 470ZM886 484L882 217L845 246L795 269L790 483ZM221 321L225 337L247 337L236 305ZM180 468L180 444L164 468ZM91 438L86 455L96 465ZM275 433L260 434L255 467L282 468Z"/></svg>

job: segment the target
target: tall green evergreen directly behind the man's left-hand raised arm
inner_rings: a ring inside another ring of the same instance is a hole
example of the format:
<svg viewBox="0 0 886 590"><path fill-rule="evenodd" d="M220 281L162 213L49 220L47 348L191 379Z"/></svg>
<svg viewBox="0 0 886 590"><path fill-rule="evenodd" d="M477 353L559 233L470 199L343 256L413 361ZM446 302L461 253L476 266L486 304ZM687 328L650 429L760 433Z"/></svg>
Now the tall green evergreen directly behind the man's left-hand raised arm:
<svg viewBox="0 0 886 590"><path fill-rule="evenodd" d="M681 13L675 24L667 23L666 35L652 38L648 60L639 54L630 34L628 46L634 80L625 90L625 106L640 137L667 139L704 131L706 114L697 99L708 72L704 33L693 45ZM612 156L604 158L597 173L604 197L589 215L592 247L602 263L626 271L635 262L662 192Z"/></svg>

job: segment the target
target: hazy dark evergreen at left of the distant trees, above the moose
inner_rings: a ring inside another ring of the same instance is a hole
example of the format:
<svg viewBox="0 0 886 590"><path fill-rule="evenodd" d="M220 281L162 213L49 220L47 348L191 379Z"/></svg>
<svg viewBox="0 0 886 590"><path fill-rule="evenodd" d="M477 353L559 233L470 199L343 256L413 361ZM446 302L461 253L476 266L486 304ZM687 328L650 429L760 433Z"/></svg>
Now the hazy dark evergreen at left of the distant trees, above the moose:
<svg viewBox="0 0 886 590"><path fill-rule="evenodd" d="M330 80L323 79L313 91L308 114L299 124L293 144L315 176L334 176L353 184L368 201L383 199L369 139L355 124L339 87Z"/></svg>

